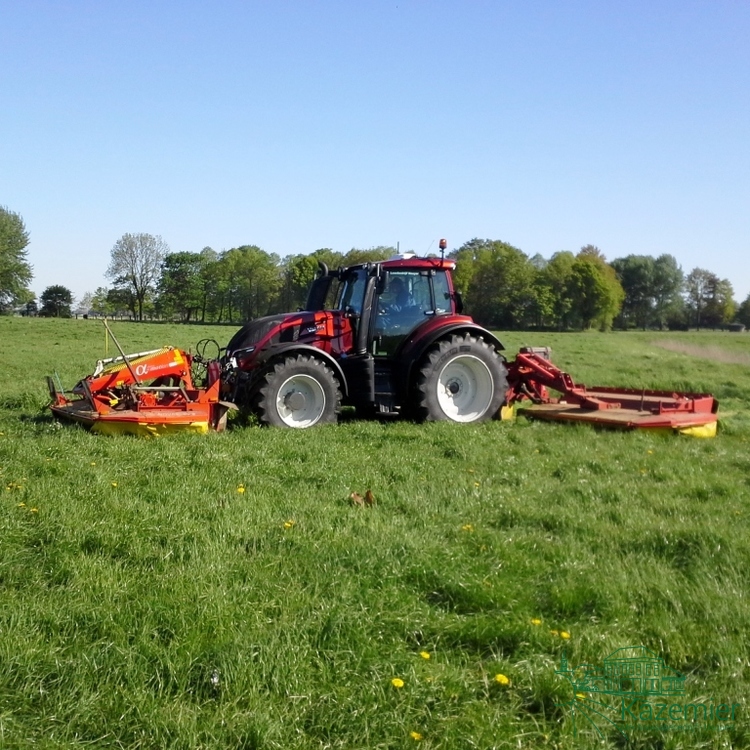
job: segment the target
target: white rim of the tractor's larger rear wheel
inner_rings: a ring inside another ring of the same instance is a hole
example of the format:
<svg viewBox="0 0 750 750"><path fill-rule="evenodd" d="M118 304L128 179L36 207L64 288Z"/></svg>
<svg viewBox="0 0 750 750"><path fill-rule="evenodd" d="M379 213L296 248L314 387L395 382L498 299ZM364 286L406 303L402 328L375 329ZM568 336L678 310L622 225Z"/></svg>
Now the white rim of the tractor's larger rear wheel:
<svg viewBox="0 0 750 750"><path fill-rule="evenodd" d="M490 368L478 357L455 357L440 371L437 398L440 408L454 422L474 422L480 419L495 393L495 381Z"/></svg>

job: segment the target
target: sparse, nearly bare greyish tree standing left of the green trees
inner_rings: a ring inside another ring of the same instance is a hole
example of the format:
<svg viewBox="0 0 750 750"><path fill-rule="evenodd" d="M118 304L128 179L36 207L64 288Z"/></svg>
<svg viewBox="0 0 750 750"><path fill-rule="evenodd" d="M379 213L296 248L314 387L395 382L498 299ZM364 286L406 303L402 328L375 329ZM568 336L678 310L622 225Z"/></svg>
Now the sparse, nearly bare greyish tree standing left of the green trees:
<svg viewBox="0 0 750 750"><path fill-rule="evenodd" d="M112 248L107 278L132 295L130 307L138 320L143 320L146 299L156 289L168 252L167 243L150 234L124 234Z"/></svg>

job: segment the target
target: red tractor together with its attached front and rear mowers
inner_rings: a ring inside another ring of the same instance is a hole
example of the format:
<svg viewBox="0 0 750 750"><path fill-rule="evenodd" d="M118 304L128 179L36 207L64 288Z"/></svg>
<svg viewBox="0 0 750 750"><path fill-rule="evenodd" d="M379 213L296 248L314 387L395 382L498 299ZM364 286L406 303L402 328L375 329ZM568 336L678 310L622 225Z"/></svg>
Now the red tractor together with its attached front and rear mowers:
<svg viewBox="0 0 750 750"><path fill-rule="evenodd" d="M342 406L466 423L517 406L535 419L716 433L710 395L586 388L548 349L506 361L497 337L462 314L454 268L448 258L411 255L336 271L321 264L304 310L251 321L223 350L217 344L214 358L172 347L128 356L112 337L120 356L100 361L72 392L48 379L50 408L98 432L146 435L221 430L231 408L305 428L335 422Z"/></svg>

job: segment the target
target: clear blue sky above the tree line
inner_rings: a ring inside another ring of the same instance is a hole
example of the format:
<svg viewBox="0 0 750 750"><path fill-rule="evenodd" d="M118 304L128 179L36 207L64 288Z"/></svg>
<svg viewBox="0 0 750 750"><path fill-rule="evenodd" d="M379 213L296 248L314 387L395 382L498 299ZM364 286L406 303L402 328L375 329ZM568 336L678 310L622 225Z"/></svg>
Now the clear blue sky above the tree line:
<svg viewBox="0 0 750 750"><path fill-rule="evenodd" d="M280 256L501 239L750 293L750 3L0 0L32 288L125 232Z"/></svg>

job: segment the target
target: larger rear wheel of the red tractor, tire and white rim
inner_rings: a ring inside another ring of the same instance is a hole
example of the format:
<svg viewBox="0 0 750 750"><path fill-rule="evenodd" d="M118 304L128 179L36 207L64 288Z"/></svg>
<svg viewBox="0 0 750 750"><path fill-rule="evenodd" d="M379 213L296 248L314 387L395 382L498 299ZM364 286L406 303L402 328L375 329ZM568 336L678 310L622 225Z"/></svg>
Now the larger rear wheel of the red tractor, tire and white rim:
<svg viewBox="0 0 750 750"><path fill-rule="evenodd" d="M417 416L428 422L481 422L498 416L508 378L500 355L483 339L451 336L422 360Z"/></svg>

